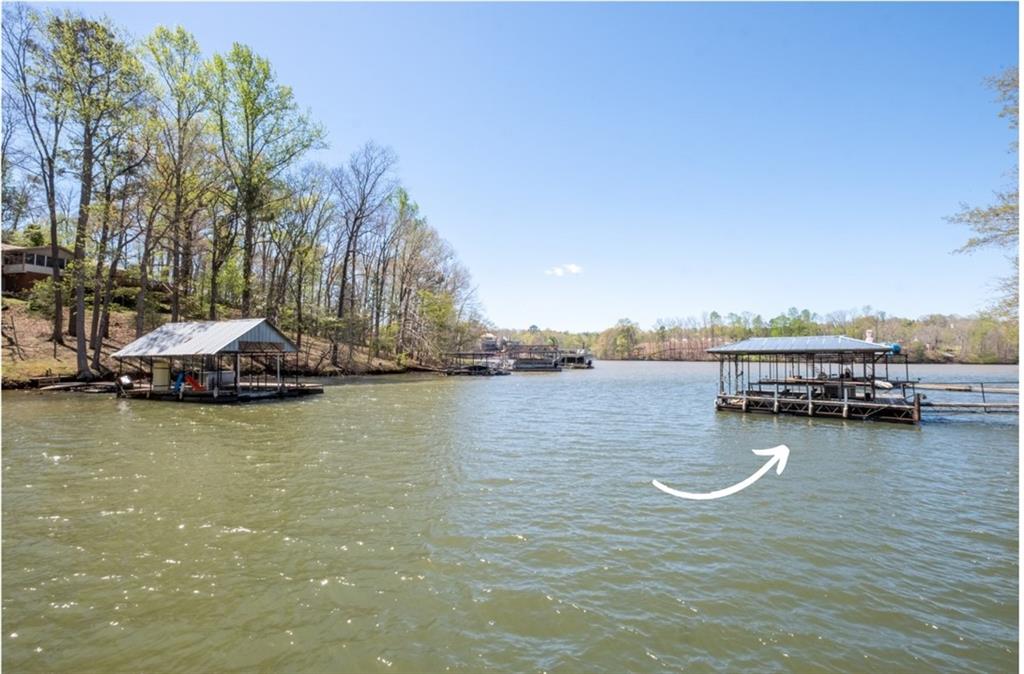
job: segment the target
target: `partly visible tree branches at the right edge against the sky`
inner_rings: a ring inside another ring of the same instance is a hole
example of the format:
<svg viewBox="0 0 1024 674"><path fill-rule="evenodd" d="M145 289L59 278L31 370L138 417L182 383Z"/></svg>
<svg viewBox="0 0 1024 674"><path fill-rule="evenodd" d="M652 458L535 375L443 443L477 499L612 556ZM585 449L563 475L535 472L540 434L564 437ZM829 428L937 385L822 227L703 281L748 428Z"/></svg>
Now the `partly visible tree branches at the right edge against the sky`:
<svg viewBox="0 0 1024 674"><path fill-rule="evenodd" d="M1019 120L1017 67L1008 68L998 77L990 78L987 83L995 90L998 101L1002 103L999 117L1007 118L1010 128L1016 132ZM1016 155L1016 140L1011 143L1010 150ZM1017 318L1020 301L1020 288L1017 281L1020 269L1018 252L1018 242L1020 240L1020 196L1016 186L1017 172L1018 168L1015 164L1011 171L1014 186L1008 187L1004 192L995 193L994 204L983 207L970 207L964 204L961 207L959 213L948 218L950 222L967 225L975 235L955 252L972 253L983 248L998 248L1007 251L1007 257L1013 264L1014 272L1012 276L999 279L1000 298L996 303L995 309L998 313L1014 319Z"/></svg>

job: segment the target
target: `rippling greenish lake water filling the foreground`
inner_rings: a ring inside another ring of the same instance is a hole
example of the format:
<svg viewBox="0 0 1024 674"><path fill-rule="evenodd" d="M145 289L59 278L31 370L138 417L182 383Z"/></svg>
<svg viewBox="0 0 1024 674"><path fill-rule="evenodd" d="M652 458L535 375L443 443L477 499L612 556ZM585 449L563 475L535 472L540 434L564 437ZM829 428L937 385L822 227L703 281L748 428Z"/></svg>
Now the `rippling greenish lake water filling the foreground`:
<svg viewBox="0 0 1024 674"><path fill-rule="evenodd" d="M716 413L717 372L4 392L3 666L1017 670L1016 416ZM725 499L650 483L722 489L778 444L782 475Z"/></svg>

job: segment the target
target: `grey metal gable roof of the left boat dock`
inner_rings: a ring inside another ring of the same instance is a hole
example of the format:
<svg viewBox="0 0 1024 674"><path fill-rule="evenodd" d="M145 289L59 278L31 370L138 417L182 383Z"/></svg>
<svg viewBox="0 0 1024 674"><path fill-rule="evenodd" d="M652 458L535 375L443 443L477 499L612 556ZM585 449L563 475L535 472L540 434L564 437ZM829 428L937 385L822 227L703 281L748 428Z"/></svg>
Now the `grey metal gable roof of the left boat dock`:
<svg viewBox="0 0 1024 674"><path fill-rule="evenodd" d="M293 353L297 349L266 319L166 323L121 350L116 359L215 355L217 353Z"/></svg>

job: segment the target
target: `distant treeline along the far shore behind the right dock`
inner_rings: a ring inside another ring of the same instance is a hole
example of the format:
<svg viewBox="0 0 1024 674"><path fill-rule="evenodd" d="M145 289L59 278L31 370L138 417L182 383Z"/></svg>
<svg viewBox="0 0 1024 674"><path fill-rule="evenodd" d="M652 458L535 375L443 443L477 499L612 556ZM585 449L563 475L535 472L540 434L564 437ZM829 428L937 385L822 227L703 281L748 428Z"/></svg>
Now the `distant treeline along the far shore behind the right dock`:
<svg viewBox="0 0 1024 674"><path fill-rule="evenodd" d="M1013 319L979 313L970 318L934 313L920 319L890 317L864 307L818 315L791 308L765 320L748 311L722 315L659 320L651 329L623 319L601 332L569 333L541 330L499 331L527 344L555 343L589 348L604 360L707 361L707 349L748 337L847 335L899 343L914 363L1017 363L1019 324Z"/></svg>

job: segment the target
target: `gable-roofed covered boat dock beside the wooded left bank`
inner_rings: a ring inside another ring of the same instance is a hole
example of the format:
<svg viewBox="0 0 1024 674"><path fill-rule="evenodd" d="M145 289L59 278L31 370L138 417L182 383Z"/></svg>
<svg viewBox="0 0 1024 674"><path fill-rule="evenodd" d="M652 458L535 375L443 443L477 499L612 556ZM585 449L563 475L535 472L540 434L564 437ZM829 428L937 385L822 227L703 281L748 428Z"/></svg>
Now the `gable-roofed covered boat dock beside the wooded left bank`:
<svg viewBox="0 0 1024 674"><path fill-rule="evenodd" d="M114 357L148 374L148 381L120 384L126 397L242 403L323 393L323 386L297 376L285 381L283 361L297 350L266 319L241 319L168 323Z"/></svg>

